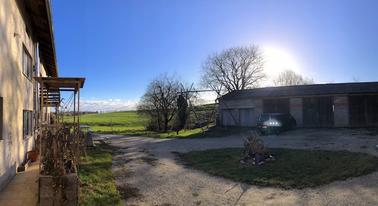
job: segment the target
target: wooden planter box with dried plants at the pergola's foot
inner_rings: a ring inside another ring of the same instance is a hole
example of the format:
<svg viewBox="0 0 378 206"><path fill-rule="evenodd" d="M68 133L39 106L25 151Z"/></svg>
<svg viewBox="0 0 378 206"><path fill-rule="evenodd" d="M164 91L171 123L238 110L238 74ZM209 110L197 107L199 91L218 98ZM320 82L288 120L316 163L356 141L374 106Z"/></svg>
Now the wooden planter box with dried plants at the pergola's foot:
<svg viewBox="0 0 378 206"><path fill-rule="evenodd" d="M55 185L53 187L53 183ZM59 185L65 185L64 188ZM55 191L57 192L55 193ZM68 174L66 178L53 178L51 175L39 175L38 202L43 205L78 205L78 173ZM62 201L62 191L67 202Z"/></svg>

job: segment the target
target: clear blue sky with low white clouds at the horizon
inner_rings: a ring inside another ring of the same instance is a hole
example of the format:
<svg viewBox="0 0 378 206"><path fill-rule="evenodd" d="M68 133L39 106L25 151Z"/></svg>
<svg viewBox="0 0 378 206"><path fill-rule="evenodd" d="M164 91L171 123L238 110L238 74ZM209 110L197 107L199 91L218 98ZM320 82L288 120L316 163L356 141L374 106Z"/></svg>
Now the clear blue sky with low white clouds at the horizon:
<svg viewBox="0 0 378 206"><path fill-rule="evenodd" d="M271 76L288 68L317 83L378 81L377 1L51 5L59 76L86 78L81 111L133 110L159 74L197 84L209 53L249 44L265 49Z"/></svg>

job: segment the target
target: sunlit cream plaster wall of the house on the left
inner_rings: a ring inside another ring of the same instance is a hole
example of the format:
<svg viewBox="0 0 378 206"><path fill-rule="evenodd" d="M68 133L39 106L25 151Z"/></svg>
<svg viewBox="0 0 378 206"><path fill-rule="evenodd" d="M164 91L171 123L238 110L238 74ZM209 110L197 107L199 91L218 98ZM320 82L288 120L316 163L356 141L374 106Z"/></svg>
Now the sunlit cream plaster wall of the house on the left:
<svg viewBox="0 0 378 206"><path fill-rule="evenodd" d="M35 138L33 135L23 139L23 111L35 113L34 80L23 73L24 46L35 66L35 42L28 20L22 1L0 0L0 97L3 97L0 191L16 174L17 167L24 161L26 153L32 149ZM26 27L29 35L26 33ZM42 76L46 75L43 65L40 71Z"/></svg>

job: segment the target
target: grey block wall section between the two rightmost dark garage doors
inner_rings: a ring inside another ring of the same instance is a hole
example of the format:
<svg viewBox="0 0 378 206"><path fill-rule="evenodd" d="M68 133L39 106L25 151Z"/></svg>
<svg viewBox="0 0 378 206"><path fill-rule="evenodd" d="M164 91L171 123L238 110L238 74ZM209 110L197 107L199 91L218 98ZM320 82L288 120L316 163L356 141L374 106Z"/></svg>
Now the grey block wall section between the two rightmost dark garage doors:
<svg viewBox="0 0 378 206"><path fill-rule="evenodd" d="M348 96L334 96L334 127L349 127Z"/></svg>

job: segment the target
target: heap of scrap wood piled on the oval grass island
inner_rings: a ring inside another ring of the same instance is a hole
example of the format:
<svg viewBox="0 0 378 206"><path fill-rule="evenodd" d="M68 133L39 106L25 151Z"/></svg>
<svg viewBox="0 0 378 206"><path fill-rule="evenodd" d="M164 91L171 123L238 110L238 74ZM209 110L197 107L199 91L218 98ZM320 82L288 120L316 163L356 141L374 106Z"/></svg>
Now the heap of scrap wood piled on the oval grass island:
<svg viewBox="0 0 378 206"><path fill-rule="evenodd" d="M243 137L244 149L241 154L243 164L263 164L272 162L275 158L270 155L269 141L268 147L264 147L264 139L261 139L257 132L252 131L252 135Z"/></svg>

